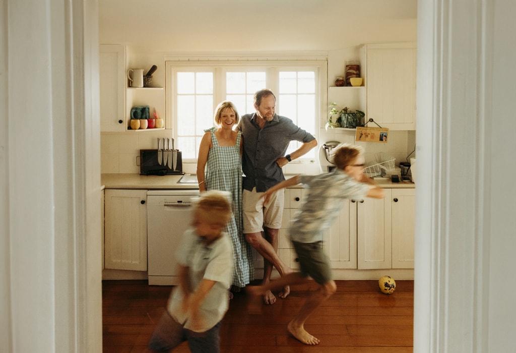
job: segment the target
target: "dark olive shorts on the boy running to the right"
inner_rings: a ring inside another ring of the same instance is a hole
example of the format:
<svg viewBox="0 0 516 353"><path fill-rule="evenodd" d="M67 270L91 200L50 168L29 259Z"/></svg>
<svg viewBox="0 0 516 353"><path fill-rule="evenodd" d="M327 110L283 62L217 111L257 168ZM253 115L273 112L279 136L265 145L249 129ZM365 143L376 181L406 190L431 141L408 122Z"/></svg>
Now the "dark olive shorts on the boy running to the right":
<svg viewBox="0 0 516 353"><path fill-rule="evenodd" d="M315 282L325 284L332 280L328 256L322 251L322 242L292 242L299 258L301 274L312 277Z"/></svg>

